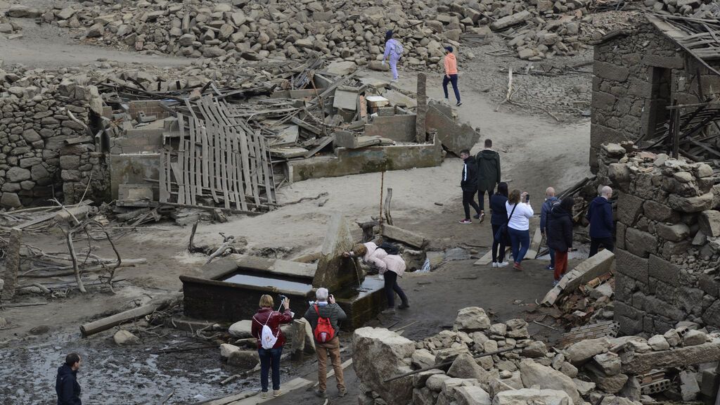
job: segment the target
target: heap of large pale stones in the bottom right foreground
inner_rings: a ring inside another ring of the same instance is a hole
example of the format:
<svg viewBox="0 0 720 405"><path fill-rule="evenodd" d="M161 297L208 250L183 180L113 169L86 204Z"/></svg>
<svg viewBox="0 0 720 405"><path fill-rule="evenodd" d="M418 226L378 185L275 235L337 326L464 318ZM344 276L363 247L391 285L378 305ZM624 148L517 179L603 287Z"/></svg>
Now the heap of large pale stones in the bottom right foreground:
<svg viewBox="0 0 720 405"><path fill-rule="evenodd" d="M538 399L557 405L639 404L652 401L643 395L643 378L655 368L668 368L660 391L669 389L666 395L682 393L690 400L700 392L691 388L704 380L693 362L709 363L720 356L720 334L692 324L650 339L602 337L564 350L532 339L527 326L522 319L492 324L482 308L470 307L458 312L452 331L419 342L387 329L357 329L353 364L362 382L359 404L515 405ZM511 350L474 358L507 348ZM701 353L706 357L698 361L694 356ZM385 381L420 369L428 370ZM683 383L670 383L678 373L685 376Z"/></svg>

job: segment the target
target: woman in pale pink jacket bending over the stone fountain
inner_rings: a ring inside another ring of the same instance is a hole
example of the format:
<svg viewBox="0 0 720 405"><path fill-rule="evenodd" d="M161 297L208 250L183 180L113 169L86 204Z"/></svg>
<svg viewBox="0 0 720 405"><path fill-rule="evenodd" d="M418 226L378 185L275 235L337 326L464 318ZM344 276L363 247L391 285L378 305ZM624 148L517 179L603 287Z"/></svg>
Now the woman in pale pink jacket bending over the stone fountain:
<svg viewBox="0 0 720 405"><path fill-rule="evenodd" d="M376 269L385 280L385 295L387 295L387 310L383 313L395 312L395 293L400 296L402 303L397 308L410 308L408 297L397 285L397 277L405 272L405 260L397 254L387 254L373 242L356 244L351 252L343 253L345 257L360 257L365 264Z"/></svg>

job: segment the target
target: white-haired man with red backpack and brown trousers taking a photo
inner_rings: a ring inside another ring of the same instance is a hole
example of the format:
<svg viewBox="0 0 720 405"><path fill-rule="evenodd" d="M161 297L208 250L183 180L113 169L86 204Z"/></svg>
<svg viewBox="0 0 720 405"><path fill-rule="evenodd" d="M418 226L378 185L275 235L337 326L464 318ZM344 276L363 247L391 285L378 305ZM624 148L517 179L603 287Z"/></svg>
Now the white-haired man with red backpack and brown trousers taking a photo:
<svg viewBox="0 0 720 405"><path fill-rule="evenodd" d="M338 396L345 396L345 378L343 378L343 367L340 362L340 339L338 333L338 321L346 319L345 311L335 303L335 297L328 293L327 288L318 288L315 292L315 303L307 308L305 319L312 326L312 334L315 336L315 347L318 350L318 391L315 395L320 398L327 398L325 392L328 388L328 353L333 362L335 379L338 382Z"/></svg>

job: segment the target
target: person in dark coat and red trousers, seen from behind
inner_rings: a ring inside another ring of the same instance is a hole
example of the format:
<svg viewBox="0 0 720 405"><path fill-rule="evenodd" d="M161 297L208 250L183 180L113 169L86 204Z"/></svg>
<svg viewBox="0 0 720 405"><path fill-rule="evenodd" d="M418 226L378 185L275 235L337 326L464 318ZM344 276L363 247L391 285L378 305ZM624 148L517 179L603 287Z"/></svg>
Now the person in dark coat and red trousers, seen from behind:
<svg viewBox="0 0 720 405"><path fill-rule="evenodd" d="M575 200L565 197L558 205L554 205L549 213L551 221L547 225L547 246L555 252L556 285L567 271L567 252L572 249L572 206Z"/></svg>

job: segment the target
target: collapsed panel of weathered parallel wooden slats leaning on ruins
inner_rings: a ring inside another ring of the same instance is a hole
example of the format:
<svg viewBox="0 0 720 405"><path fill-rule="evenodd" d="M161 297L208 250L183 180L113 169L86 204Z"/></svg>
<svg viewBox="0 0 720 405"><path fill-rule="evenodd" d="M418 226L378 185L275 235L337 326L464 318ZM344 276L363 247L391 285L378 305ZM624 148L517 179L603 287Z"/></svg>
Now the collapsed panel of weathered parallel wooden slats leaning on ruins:
<svg viewBox="0 0 720 405"><path fill-rule="evenodd" d="M185 100L179 131L161 150L160 202L271 210L276 203L265 138L223 99Z"/></svg>

